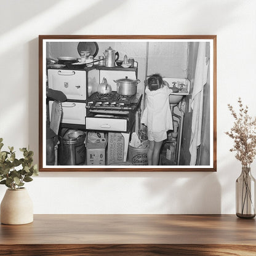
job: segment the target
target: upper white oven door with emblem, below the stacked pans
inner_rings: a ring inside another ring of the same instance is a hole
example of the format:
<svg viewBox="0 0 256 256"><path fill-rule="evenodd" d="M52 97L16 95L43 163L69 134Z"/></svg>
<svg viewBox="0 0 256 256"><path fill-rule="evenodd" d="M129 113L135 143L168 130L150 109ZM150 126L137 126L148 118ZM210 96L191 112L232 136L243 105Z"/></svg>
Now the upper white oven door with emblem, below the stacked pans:
<svg viewBox="0 0 256 256"><path fill-rule="evenodd" d="M48 70L50 89L61 90L69 100L86 100L86 71Z"/></svg>

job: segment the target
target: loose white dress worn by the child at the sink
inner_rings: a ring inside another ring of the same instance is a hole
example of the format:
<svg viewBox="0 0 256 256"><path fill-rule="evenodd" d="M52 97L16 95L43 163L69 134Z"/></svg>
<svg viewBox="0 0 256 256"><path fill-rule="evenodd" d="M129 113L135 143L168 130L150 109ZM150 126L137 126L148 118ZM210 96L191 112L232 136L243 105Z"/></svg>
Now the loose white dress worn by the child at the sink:
<svg viewBox="0 0 256 256"><path fill-rule="evenodd" d="M164 86L158 90L145 90L147 96L146 108L142 114L142 124L151 132L166 132L173 130L172 112L169 105L169 94L172 89Z"/></svg>

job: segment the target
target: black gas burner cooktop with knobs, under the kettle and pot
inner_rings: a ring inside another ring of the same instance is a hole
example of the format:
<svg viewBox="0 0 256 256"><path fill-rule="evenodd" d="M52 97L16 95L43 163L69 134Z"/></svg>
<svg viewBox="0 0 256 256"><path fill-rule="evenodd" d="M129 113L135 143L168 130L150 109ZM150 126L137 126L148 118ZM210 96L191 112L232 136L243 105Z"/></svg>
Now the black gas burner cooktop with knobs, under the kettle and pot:
<svg viewBox="0 0 256 256"><path fill-rule="evenodd" d="M89 110L118 110L134 111L142 100L142 94L119 95L117 92L99 94L95 92L86 100L86 108Z"/></svg>

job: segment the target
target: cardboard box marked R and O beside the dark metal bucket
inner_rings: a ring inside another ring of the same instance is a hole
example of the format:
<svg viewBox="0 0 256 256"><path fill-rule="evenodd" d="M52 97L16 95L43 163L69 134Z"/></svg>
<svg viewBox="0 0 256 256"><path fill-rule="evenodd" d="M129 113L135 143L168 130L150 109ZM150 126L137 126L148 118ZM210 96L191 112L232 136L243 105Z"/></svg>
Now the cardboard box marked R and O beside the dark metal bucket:
<svg viewBox="0 0 256 256"><path fill-rule="evenodd" d="M87 166L105 166L106 143L92 143L86 140L86 164Z"/></svg>

